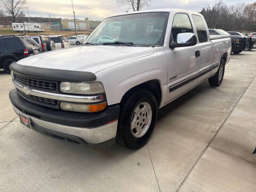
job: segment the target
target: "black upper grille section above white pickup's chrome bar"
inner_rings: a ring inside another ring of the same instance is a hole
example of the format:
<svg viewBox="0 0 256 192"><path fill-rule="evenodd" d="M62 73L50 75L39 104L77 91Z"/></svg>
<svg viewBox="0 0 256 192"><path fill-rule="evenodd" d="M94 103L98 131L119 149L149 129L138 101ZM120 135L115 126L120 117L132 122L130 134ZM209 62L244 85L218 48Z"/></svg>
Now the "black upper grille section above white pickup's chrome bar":
<svg viewBox="0 0 256 192"><path fill-rule="evenodd" d="M34 79L30 77L23 77L18 74L14 74L14 79L17 83L21 83L29 87L35 87L43 90L55 91L57 87L57 83L55 82L45 81L42 79Z"/></svg>

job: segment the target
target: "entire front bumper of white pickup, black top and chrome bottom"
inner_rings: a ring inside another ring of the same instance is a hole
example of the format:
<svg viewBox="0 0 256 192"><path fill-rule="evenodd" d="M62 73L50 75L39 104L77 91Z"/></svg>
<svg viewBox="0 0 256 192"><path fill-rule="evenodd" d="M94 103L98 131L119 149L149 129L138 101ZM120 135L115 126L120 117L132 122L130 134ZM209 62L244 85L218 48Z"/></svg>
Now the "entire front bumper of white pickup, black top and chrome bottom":
<svg viewBox="0 0 256 192"><path fill-rule="evenodd" d="M35 105L21 98L17 90L10 91L9 97L15 113L29 117L31 128L37 132L80 144L115 142L119 105L85 114Z"/></svg>

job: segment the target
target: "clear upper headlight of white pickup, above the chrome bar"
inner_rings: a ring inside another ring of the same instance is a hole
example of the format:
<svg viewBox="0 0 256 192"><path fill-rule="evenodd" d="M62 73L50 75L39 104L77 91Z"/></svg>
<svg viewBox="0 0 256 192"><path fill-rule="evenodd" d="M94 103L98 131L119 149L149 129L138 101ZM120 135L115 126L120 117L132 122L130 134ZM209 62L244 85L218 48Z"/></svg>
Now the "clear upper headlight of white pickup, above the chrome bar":
<svg viewBox="0 0 256 192"><path fill-rule="evenodd" d="M61 82L60 91L63 93L75 93L75 94L98 94L98 93L105 92L101 82L91 82L91 83Z"/></svg>

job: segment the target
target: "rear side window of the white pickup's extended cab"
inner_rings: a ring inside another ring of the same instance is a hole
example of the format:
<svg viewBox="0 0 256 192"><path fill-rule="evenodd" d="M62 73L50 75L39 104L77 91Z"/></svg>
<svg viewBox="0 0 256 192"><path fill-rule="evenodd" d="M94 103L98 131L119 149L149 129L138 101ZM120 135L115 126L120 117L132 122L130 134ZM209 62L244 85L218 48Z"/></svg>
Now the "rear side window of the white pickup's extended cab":
<svg viewBox="0 0 256 192"><path fill-rule="evenodd" d="M200 43L207 42L208 41L207 32L206 32L206 27L204 25L203 19L199 15L192 15L192 18L196 26L198 41Z"/></svg>

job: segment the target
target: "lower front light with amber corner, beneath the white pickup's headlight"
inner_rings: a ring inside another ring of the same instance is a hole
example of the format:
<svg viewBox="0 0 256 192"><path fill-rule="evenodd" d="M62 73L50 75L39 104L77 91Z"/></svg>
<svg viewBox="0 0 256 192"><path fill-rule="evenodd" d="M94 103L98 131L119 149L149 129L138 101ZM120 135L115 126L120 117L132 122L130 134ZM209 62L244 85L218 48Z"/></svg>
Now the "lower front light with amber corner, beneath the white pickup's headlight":
<svg viewBox="0 0 256 192"><path fill-rule="evenodd" d="M77 112L98 112L102 111L107 107L107 102L95 103L92 105L84 103L73 103L73 102L61 102L60 108L67 111L77 111Z"/></svg>

